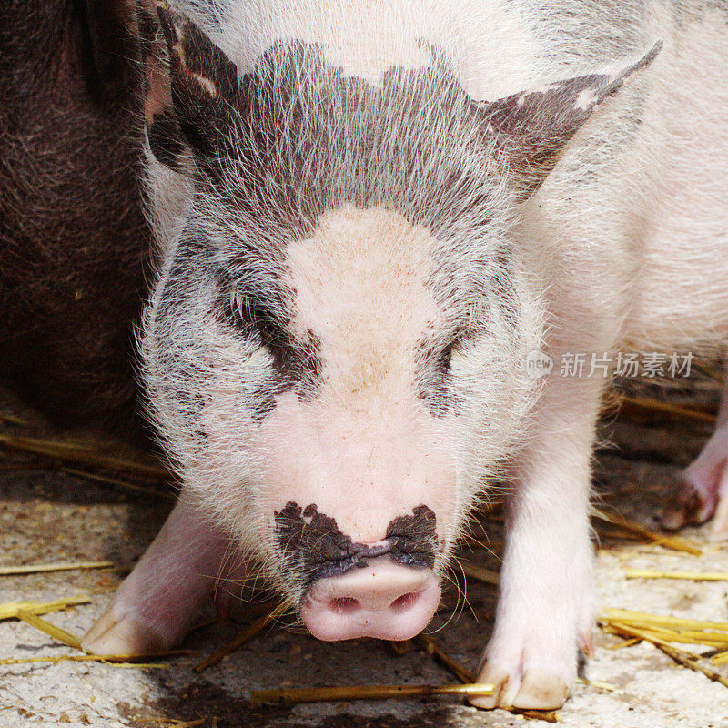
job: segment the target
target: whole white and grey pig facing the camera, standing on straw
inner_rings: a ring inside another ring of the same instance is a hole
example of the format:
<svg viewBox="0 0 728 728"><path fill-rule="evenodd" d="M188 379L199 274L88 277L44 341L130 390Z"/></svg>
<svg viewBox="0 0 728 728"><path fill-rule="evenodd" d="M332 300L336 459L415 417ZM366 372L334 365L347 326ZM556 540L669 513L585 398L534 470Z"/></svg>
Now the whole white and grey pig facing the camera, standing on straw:
<svg viewBox="0 0 728 728"><path fill-rule="evenodd" d="M247 573L319 639L406 639L506 480L472 703L560 706L591 651L609 379L524 362L728 334L728 4L145 0L127 22L142 376L183 487L84 646L167 647ZM668 525L717 509L724 533L727 440L723 418Z"/></svg>

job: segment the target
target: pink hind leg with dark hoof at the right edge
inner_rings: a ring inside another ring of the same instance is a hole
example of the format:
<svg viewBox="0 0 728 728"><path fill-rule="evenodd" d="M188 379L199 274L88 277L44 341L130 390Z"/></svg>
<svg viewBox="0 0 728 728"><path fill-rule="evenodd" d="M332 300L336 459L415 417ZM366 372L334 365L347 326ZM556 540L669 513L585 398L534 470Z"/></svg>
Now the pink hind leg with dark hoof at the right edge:
<svg viewBox="0 0 728 728"><path fill-rule="evenodd" d="M662 526L676 530L704 523L713 516L711 538L728 538L728 379L715 430L700 455L682 472L678 489L666 501Z"/></svg>

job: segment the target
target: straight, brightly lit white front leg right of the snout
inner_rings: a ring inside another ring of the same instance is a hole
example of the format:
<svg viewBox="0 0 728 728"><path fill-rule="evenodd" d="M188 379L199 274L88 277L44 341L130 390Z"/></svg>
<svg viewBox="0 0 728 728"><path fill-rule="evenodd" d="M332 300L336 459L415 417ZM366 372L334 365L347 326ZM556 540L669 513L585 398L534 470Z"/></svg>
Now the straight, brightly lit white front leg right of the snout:
<svg viewBox="0 0 728 728"><path fill-rule="evenodd" d="M594 613L589 525L591 450L605 379L552 374L519 457L496 622L479 681L484 708L560 707L591 651Z"/></svg>

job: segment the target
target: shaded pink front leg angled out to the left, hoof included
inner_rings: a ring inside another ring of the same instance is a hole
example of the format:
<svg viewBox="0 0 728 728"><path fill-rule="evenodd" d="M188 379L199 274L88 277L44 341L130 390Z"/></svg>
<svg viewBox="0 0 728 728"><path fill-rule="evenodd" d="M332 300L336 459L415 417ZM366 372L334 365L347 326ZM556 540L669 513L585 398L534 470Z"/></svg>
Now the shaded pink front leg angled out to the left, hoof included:
<svg viewBox="0 0 728 728"><path fill-rule="evenodd" d="M228 545L183 492L114 605L84 637L84 650L126 654L173 645L215 592Z"/></svg>

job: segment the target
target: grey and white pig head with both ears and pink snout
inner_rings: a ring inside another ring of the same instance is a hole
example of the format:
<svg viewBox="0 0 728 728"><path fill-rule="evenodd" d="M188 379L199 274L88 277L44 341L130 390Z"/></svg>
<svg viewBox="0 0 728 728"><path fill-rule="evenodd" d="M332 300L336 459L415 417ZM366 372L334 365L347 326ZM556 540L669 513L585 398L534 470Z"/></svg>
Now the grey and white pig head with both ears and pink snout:
<svg viewBox="0 0 728 728"><path fill-rule="evenodd" d="M638 66L476 103L436 47L379 86L295 40L238 69L156 10L151 416L314 635L409 638L537 396L519 204Z"/></svg>

